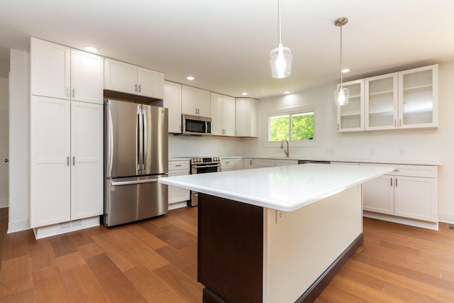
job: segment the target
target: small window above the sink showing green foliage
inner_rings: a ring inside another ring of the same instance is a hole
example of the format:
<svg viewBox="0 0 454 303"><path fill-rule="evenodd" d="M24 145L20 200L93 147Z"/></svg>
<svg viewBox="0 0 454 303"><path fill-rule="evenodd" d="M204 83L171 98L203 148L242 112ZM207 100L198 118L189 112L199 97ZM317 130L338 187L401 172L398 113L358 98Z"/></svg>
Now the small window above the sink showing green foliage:
<svg viewBox="0 0 454 303"><path fill-rule="evenodd" d="M294 109L268 114L268 143L288 140L293 144L314 145L316 109Z"/></svg>

